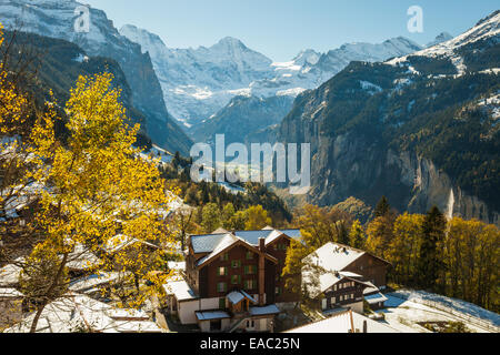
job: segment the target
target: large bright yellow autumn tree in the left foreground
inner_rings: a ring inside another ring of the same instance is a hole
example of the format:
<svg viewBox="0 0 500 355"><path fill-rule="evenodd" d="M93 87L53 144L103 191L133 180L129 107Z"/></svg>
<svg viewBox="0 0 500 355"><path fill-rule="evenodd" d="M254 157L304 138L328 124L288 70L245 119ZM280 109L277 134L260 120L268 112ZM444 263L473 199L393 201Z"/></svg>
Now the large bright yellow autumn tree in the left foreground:
<svg viewBox="0 0 500 355"><path fill-rule="evenodd" d="M37 169L28 176L38 186L33 224L40 242L21 278L37 284L36 292L23 290L28 301L36 300L32 332L44 306L63 296L70 263L83 258L96 274L118 275L119 287L111 291L127 307L140 307L168 277L161 271L173 241L163 216L172 197L154 162L133 148L139 126L127 124L112 79L108 73L79 78L66 104L67 142L54 136L53 110L37 120L30 136ZM37 273L27 271L44 262L52 265L50 277L33 280Z"/></svg>

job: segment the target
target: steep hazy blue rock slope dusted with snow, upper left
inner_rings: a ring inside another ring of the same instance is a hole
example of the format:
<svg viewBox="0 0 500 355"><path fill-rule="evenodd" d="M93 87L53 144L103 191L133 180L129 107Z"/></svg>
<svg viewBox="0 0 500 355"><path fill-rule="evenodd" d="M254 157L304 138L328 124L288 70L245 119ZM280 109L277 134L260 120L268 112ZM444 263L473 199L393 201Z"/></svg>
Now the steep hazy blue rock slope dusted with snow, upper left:
<svg viewBox="0 0 500 355"><path fill-rule="evenodd" d="M147 116L151 139L170 150L189 151L189 139L167 112L150 57L142 53L139 44L121 36L101 10L87 7L88 32L84 27L83 31L77 31L76 22L84 18L79 11L83 7L74 0L0 0L0 22L7 29L73 42L92 57L114 59L131 87L133 105Z"/></svg>

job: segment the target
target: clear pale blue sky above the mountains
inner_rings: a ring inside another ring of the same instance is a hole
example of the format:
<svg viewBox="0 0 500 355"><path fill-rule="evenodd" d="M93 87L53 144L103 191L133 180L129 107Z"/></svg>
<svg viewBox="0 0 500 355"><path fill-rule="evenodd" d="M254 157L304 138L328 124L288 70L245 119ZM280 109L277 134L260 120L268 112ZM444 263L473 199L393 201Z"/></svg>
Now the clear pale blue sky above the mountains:
<svg viewBox="0 0 500 355"><path fill-rule="evenodd" d="M302 49L328 51L346 42L379 43L404 36L424 44L457 36L500 8L498 0L81 0L102 9L116 27L136 24L168 47L212 45L240 39L274 61ZM409 33L407 10L423 9L423 33Z"/></svg>

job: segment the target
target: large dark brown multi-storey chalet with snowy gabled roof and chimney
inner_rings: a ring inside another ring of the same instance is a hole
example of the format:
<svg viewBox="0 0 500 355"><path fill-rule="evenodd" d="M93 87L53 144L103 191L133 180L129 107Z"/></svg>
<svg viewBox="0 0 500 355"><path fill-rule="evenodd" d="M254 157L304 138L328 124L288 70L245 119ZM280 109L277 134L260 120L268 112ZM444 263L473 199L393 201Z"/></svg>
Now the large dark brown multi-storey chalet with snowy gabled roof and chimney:
<svg viewBox="0 0 500 355"><path fill-rule="evenodd" d="M272 332L280 306L298 302L281 276L300 231L217 231L188 241L184 280L164 285L167 307L203 332Z"/></svg>

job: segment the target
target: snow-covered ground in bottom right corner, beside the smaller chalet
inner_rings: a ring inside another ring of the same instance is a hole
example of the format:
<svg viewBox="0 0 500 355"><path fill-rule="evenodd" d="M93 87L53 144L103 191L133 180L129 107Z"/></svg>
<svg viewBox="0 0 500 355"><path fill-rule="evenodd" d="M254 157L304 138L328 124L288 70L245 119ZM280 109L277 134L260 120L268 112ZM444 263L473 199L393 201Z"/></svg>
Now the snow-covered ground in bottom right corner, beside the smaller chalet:
<svg viewBox="0 0 500 355"><path fill-rule="evenodd" d="M383 313L386 315L386 321L382 323L403 333L430 333L419 323L432 322L463 322L470 331L476 333L494 332L492 328L488 329L484 326L480 326L479 323L468 322L463 316L482 315L486 317L489 315L498 317L498 315L463 301L452 300L421 291L398 291L386 294L386 296L389 298L386 302L387 308L378 311L378 313ZM404 297L409 297L409 300L404 300ZM421 303L422 301L431 300L432 302L439 302L443 307L438 310ZM444 305L451 307L453 311L457 310L457 313L447 311Z"/></svg>

